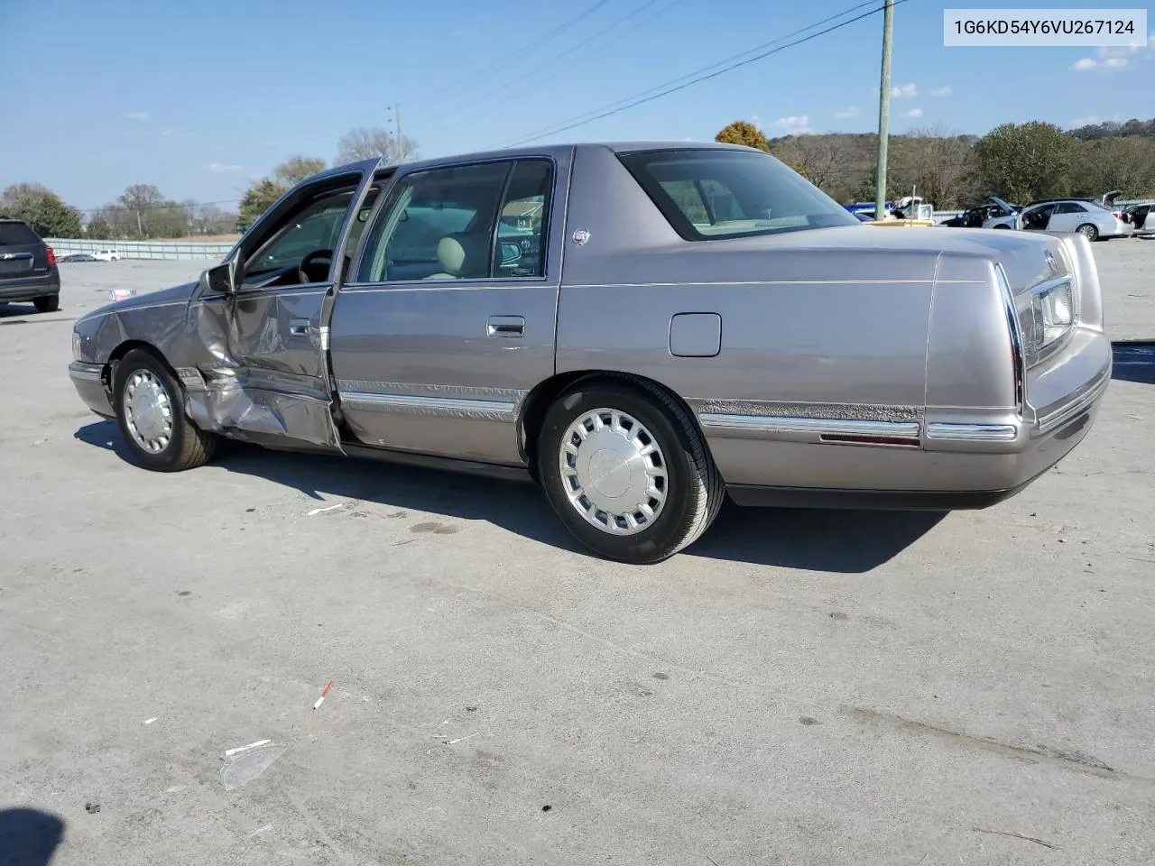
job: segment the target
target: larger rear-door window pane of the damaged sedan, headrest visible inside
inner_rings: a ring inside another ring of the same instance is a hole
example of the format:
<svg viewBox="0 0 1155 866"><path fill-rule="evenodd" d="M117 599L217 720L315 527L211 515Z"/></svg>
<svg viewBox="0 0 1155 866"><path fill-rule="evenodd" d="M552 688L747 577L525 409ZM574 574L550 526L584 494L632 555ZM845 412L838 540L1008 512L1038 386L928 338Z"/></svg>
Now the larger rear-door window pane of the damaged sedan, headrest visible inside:
<svg viewBox="0 0 1155 866"><path fill-rule="evenodd" d="M493 229L511 163L416 172L381 209L357 281L469 279L490 275Z"/></svg>

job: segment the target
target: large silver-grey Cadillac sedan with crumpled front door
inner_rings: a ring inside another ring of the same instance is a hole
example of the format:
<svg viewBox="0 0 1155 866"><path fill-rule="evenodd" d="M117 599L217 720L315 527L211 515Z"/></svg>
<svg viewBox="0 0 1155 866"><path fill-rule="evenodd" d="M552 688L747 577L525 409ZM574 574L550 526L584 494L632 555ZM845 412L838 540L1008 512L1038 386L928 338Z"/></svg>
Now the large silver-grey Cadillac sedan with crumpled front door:
<svg viewBox="0 0 1155 866"><path fill-rule="evenodd" d="M766 154L684 143L326 171L199 282L81 318L74 354L149 469L230 436L528 475L628 562L728 493L998 502L1111 373L1083 238L864 225Z"/></svg>

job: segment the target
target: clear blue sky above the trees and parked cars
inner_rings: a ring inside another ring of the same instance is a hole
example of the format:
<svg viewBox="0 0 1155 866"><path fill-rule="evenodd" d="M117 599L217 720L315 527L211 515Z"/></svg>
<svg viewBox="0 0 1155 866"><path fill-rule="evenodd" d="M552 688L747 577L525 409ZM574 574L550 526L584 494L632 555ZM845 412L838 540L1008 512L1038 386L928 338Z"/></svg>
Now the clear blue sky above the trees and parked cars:
<svg viewBox="0 0 1155 866"><path fill-rule="evenodd" d="M386 126L394 104L422 156L497 147L855 5L0 0L0 186L39 181L84 209L136 182L172 199L236 200L289 155L331 160L343 133ZM963 5L896 7L892 130L982 134L1006 121L1071 127L1155 115L1155 42L1132 52L944 47L942 9ZM1045 8L1119 6L1145 8ZM1155 23L1150 9L1148 17ZM881 29L873 15L543 141L710 139L739 118L757 118L772 135L872 130Z"/></svg>

